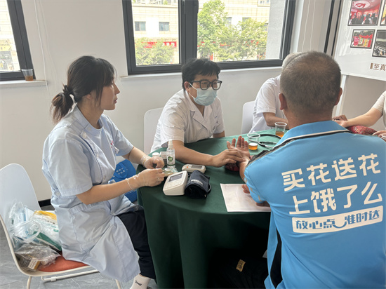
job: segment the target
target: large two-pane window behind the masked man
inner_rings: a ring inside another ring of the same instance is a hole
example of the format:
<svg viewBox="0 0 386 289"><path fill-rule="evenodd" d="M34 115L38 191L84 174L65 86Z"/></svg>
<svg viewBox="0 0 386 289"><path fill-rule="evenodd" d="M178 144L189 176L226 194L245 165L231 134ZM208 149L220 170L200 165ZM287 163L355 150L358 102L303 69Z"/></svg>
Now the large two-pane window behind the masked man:
<svg viewBox="0 0 386 289"><path fill-rule="evenodd" d="M180 72L189 58L201 57L222 69L279 66L289 51L295 0L123 4L128 74Z"/></svg>

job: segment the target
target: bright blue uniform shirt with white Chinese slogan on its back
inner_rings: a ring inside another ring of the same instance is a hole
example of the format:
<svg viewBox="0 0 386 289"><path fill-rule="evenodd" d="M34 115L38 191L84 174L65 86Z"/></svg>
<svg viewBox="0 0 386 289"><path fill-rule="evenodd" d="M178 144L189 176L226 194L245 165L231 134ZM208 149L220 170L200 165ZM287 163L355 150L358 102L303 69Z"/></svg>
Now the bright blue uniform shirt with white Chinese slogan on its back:
<svg viewBox="0 0 386 289"><path fill-rule="evenodd" d="M321 121L247 166L272 210L266 288L385 288L385 159L379 137Z"/></svg>

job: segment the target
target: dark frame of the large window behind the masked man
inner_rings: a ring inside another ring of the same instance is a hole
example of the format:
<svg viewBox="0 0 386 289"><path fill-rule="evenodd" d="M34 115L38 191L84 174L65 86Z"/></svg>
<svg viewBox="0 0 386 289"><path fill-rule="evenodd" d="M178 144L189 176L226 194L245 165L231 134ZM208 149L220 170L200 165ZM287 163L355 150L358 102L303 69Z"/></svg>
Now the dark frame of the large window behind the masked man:
<svg viewBox="0 0 386 289"><path fill-rule="evenodd" d="M286 0L286 6L284 9L284 23L281 33L281 51L279 59L217 62L219 67L221 69L242 69L281 66L284 58L286 58L286 55L288 55L291 47L293 18L295 15L295 2L296 0ZM124 31L128 75L180 72L181 66L184 65L187 60L191 58L197 58L197 15L199 13L199 0L179 0L178 4L178 22L180 25L180 64L137 66L135 62L135 40L133 30L134 27L132 1L122 0L122 5L124 8Z"/></svg>

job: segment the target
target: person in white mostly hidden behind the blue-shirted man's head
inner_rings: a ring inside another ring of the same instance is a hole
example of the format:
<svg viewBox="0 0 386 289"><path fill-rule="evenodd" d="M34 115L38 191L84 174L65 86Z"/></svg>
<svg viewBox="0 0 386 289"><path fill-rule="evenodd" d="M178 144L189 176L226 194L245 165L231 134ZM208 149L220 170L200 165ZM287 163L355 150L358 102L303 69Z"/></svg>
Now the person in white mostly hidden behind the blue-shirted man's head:
<svg viewBox="0 0 386 289"><path fill-rule="evenodd" d="M283 60L284 69L298 52L288 54ZM262 84L253 106L253 123L250 133L269 130L276 122L288 123L286 116L280 109L280 75L268 79ZM288 126L286 127L288 129Z"/></svg>

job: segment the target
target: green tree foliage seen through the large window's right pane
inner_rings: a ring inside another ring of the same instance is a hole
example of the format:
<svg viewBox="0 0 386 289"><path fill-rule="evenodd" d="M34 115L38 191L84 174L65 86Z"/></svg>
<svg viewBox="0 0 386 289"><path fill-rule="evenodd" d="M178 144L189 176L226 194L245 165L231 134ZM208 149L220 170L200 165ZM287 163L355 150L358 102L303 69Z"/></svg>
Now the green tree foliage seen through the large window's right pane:
<svg viewBox="0 0 386 289"><path fill-rule="evenodd" d="M201 57L215 55L216 61L265 59L267 27L251 18L230 25L225 4L211 0L198 15L197 45Z"/></svg>

